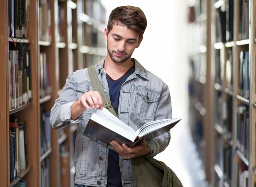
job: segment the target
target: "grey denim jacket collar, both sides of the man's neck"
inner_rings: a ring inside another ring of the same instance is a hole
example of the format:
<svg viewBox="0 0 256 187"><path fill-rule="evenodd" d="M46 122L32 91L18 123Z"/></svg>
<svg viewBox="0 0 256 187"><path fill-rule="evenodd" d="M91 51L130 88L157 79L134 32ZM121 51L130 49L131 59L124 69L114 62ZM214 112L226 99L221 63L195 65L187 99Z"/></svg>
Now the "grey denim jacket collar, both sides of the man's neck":
<svg viewBox="0 0 256 187"><path fill-rule="evenodd" d="M104 61L105 61L105 58L103 58L103 59L95 66L97 75L100 73L100 71L105 72L104 69L103 69ZM144 68L135 58L131 58L131 61L135 64L134 73L135 73L136 75L140 75L140 77L142 77L142 78L148 80L148 77L147 77L147 73L146 73L145 68Z"/></svg>

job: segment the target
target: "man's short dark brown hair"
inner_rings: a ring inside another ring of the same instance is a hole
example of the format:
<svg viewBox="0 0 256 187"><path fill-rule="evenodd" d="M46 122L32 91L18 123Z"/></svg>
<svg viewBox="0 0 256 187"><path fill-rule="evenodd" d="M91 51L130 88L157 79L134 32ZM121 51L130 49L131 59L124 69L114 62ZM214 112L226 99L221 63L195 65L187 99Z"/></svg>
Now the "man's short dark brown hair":
<svg viewBox="0 0 256 187"><path fill-rule="evenodd" d="M126 26L128 29L138 33L140 39L147 27L147 19L139 7L119 6L109 15L108 33L112 30L114 24Z"/></svg>

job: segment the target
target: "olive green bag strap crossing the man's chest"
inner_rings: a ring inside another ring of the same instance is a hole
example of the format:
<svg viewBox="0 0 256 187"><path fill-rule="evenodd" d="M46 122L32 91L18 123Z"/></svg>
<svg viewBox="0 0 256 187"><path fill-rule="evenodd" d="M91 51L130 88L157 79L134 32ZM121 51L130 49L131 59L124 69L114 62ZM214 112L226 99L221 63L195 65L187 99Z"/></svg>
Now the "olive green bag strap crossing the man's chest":
<svg viewBox="0 0 256 187"><path fill-rule="evenodd" d="M90 78L91 85L93 86L94 91L98 91L102 97L103 106L109 110L113 115L116 115L114 108L112 107L111 102L109 101L108 96L105 94L102 85L100 84L99 78L96 74L95 66L91 66L88 68L88 74Z"/></svg>

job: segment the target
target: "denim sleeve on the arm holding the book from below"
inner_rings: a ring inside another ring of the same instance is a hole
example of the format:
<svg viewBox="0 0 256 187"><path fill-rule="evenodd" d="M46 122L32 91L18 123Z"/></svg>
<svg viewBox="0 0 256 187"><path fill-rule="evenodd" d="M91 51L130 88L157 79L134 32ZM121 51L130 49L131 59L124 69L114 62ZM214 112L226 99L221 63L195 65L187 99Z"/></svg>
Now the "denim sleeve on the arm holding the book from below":
<svg viewBox="0 0 256 187"><path fill-rule="evenodd" d="M162 90L158 105L156 108L155 119L168 119L172 117L172 107L171 107L171 96L168 86ZM165 148L169 145L171 139L170 131L158 136L152 140L147 141L147 145L151 148L151 154L149 156L156 156L158 153L165 150Z"/></svg>

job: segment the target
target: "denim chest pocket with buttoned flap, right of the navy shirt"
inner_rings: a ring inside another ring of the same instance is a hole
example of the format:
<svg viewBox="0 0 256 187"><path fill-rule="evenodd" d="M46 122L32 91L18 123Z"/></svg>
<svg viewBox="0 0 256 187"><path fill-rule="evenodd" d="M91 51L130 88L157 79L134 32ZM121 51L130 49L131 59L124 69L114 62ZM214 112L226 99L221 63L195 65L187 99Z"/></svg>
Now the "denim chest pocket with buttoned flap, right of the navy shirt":
<svg viewBox="0 0 256 187"><path fill-rule="evenodd" d="M133 111L143 120L153 119L160 91L154 91L144 86L135 87L136 97Z"/></svg>

